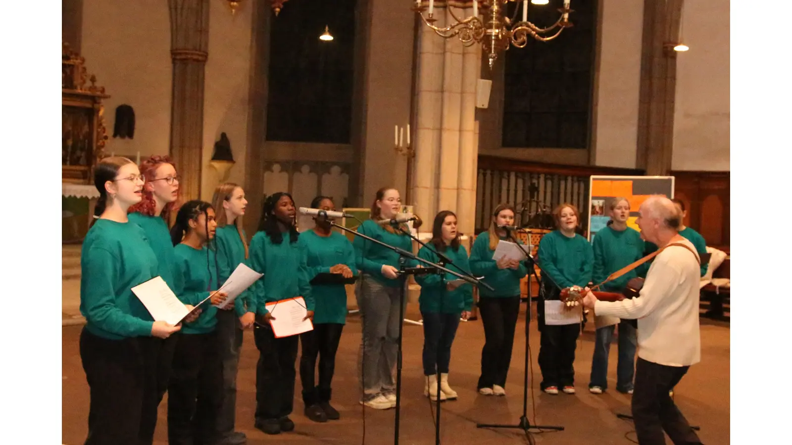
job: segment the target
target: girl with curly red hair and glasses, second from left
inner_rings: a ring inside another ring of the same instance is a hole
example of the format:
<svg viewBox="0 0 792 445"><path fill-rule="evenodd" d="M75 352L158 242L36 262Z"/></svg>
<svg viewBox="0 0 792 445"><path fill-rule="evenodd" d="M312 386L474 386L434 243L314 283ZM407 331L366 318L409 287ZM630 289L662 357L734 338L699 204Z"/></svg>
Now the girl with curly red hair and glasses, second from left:
<svg viewBox="0 0 792 445"><path fill-rule="evenodd" d="M140 172L146 183L143 184L142 199L129 207L129 220L140 226L146 234L159 264L157 275L162 276L162 280L165 280L174 294L181 295L181 274L173 270L176 257L173 254L173 244L170 242L168 231L170 213L179 197L176 168L168 156L152 156L141 162ZM143 419L143 423L147 425L143 432L144 442L151 443L157 425L157 407L168 389L170 365L177 336L167 340L150 338L145 341L150 343L146 348L147 363L158 370L157 378L147 382L154 386L155 390L148 393L153 394L154 397L147 401L151 409L147 418Z"/></svg>

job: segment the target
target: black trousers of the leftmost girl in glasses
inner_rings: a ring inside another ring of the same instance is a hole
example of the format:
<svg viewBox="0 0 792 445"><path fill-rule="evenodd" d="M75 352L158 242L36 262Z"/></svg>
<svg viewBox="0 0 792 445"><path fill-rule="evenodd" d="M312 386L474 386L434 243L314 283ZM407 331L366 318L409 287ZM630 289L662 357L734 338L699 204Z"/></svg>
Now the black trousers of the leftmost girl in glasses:
<svg viewBox="0 0 792 445"><path fill-rule="evenodd" d="M83 328L80 358L90 390L86 445L138 445L147 368L138 338L106 340Z"/></svg>

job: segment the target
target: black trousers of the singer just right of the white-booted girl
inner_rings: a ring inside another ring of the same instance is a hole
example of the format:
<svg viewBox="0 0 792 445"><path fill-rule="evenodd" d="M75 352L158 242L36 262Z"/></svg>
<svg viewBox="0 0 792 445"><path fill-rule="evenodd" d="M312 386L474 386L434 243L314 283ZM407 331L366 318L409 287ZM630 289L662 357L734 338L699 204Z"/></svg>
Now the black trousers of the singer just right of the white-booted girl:
<svg viewBox="0 0 792 445"><path fill-rule="evenodd" d="M508 365L512 362L512 346L517 318L520 316L520 295L507 298L482 297L478 310L484 325L482 375L478 389L506 386Z"/></svg>

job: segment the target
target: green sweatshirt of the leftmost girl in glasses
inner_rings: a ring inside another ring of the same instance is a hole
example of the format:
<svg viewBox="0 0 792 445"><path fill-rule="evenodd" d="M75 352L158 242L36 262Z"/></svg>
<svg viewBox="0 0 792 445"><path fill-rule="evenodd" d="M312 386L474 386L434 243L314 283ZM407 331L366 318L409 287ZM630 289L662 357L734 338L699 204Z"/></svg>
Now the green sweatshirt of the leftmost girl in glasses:
<svg viewBox="0 0 792 445"><path fill-rule="evenodd" d="M82 242L80 267L80 313L90 333L109 340L151 335L154 319L131 291L158 276L140 226L97 219Z"/></svg>

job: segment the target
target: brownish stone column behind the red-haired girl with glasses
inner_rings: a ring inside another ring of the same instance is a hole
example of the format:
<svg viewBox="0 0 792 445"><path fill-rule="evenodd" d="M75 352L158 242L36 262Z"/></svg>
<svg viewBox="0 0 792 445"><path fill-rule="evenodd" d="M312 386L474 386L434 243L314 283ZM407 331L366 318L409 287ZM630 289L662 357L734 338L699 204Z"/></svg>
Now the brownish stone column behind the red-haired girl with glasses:
<svg viewBox="0 0 792 445"><path fill-rule="evenodd" d="M168 0L173 89L170 155L185 200L200 196L204 138L204 68L208 58L209 0Z"/></svg>

